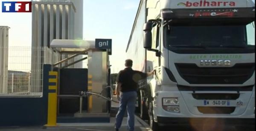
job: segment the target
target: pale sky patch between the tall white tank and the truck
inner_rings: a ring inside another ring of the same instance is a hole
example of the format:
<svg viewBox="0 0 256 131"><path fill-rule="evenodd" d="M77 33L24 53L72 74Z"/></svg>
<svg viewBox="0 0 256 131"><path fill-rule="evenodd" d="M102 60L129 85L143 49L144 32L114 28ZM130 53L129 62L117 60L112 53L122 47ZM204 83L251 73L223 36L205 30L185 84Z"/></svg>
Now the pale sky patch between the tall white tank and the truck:
<svg viewBox="0 0 256 131"><path fill-rule="evenodd" d="M84 0L84 39L112 39L111 72L124 68L140 0Z"/></svg>

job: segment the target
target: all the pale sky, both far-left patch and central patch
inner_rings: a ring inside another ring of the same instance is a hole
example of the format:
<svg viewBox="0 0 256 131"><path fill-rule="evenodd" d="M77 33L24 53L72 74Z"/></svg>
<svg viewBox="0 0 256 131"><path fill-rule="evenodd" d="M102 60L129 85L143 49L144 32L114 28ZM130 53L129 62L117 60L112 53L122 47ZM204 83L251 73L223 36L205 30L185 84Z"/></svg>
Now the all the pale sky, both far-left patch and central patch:
<svg viewBox="0 0 256 131"><path fill-rule="evenodd" d="M124 60L127 58L125 49L139 3L140 0L84 0L83 39L112 39L112 72L119 72L124 68ZM1 13L1 10L0 6L0 26L11 27L9 46L31 46L32 14Z"/></svg>

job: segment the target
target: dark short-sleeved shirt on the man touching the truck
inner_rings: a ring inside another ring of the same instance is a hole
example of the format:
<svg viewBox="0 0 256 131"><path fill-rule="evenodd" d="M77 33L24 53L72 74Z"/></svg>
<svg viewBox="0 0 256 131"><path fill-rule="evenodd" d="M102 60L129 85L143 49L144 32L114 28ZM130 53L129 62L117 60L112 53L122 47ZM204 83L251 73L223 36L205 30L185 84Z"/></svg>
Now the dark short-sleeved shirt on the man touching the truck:
<svg viewBox="0 0 256 131"><path fill-rule="evenodd" d="M132 92L138 88L138 81L147 78L147 74L132 70L131 68L125 68L121 70L117 77L117 82L121 83L121 92Z"/></svg>

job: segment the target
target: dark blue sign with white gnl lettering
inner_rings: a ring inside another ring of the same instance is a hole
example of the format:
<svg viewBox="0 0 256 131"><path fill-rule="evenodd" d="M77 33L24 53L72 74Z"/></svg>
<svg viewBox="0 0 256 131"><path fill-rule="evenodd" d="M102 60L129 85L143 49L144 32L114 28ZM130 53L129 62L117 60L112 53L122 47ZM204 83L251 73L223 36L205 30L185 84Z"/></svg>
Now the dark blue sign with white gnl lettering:
<svg viewBox="0 0 256 131"><path fill-rule="evenodd" d="M106 49L109 55L112 53L112 39L95 39L96 49Z"/></svg>

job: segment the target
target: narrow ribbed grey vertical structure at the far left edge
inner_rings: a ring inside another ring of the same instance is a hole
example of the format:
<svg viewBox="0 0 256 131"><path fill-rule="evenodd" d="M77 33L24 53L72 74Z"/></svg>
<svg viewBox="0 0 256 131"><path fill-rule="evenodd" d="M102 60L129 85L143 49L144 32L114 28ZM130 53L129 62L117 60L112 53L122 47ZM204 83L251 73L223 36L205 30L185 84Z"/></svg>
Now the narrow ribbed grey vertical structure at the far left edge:
<svg viewBox="0 0 256 131"><path fill-rule="evenodd" d="M0 93L8 89L8 26L0 26Z"/></svg>

